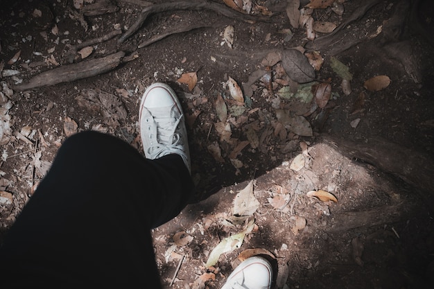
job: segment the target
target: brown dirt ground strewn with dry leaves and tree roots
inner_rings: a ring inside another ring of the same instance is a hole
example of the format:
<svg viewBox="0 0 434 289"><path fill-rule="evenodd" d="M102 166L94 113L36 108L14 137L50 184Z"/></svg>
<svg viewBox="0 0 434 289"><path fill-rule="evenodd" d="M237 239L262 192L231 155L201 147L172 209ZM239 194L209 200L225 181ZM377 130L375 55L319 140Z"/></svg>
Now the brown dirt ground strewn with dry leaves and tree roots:
<svg viewBox="0 0 434 289"><path fill-rule="evenodd" d="M70 134L142 150L159 81L198 193L153 231L165 288L220 288L252 254L276 288L434 288L431 0L81 2L2 1L1 238Z"/></svg>

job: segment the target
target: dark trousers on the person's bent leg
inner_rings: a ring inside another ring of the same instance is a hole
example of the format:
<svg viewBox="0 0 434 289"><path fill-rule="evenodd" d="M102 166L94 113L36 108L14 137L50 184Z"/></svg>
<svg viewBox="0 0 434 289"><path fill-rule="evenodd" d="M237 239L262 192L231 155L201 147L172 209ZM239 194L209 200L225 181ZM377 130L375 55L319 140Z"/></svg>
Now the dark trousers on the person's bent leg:
<svg viewBox="0 0 434 289"><path fill-rule="evenodd" d="M0 288L159 288L150 229L192 194L180 156L145 159L107 134L75 134L8 231Z"/></svg>

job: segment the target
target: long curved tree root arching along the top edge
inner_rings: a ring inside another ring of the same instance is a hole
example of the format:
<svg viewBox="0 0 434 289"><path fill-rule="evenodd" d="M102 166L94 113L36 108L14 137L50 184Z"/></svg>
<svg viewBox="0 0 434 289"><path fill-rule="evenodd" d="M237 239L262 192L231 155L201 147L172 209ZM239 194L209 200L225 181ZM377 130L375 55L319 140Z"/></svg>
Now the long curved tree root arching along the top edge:
<svg viewBox="0 0 434 289"><path fill-rule="evenodd" d="M125 33L123 33L123 35L119 38L118 43L124 42L125 40L128 39L128 37L136 33L137 30L141 28L142 24L144 24L144 21L146 21L149 15L157 12L166 12L171 10L211 10L220 15L234 18L234 19L241 19L244 21L266 21L266 22L270 21L270 17L254 17L252 15L246 15L211 1L203 1L199 3L196 1L160 3L160 4L155 4L153 6L146 7L144 8L144 10L141 10L138 19L134 22L134 24L132 24L130 29L128 29Z"/></svg>

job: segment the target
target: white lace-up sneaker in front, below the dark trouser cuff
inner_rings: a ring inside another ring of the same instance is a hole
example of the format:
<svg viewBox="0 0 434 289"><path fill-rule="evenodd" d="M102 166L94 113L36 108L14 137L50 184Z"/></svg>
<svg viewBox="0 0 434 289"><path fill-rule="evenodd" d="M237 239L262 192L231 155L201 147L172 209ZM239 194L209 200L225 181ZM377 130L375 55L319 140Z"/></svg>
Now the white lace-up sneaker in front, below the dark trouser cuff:
<svg viewBox="0 0 434 289"><path fill-rule="evenodd" d="M145 156L177 154L191 171L189 143L180 100L165 83L154 83L141 98L139 128Z"/></svg>

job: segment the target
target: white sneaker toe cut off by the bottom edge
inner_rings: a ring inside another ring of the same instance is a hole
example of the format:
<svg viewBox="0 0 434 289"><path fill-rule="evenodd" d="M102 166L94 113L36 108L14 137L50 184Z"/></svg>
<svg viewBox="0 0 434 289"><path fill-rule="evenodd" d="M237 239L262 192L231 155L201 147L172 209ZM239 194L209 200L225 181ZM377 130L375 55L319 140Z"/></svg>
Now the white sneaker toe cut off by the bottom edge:
<svg viewBox="0 0 434 289"><path fill-rule="evenodd" d="M271 264L264 258L253 256L235 268L221 289L270 289Z"/></svg>

